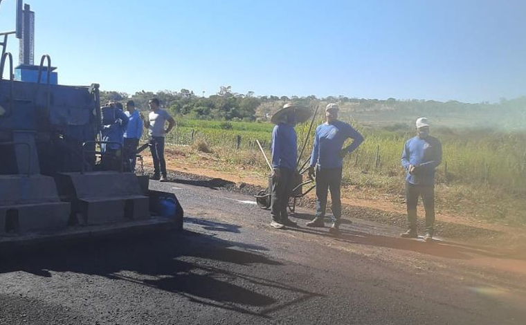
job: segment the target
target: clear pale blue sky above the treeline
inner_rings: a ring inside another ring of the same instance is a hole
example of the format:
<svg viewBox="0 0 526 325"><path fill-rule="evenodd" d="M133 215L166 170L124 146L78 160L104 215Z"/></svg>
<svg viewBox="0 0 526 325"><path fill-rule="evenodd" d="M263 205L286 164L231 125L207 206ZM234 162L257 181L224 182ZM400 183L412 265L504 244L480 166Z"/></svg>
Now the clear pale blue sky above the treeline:
<svg viewBox="0 0 526 325"><path fill-rule="evenodd" d="M35 60L50 54L61 84L464 102L526 95L521 0L26 2ZM14 5L3 0L0 30L14 26Z"/></svg>

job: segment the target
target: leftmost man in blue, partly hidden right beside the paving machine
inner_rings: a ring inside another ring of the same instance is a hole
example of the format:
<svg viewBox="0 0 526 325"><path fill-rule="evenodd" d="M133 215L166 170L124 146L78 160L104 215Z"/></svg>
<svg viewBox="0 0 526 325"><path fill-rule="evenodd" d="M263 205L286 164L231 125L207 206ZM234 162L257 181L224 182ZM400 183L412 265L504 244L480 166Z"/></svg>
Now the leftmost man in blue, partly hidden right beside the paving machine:
<svg viewBox="0 0 526 325"><path fill-rule="evenodd" d="M109 106L111 109L105 110L106 124L102 125L102 141L113 143L100 146L103 153L101 163L103 169L118 170L121 163L120 155L123 154L123 134L128 125L128 117L117 108L116 103L111 103Z"/></svg>

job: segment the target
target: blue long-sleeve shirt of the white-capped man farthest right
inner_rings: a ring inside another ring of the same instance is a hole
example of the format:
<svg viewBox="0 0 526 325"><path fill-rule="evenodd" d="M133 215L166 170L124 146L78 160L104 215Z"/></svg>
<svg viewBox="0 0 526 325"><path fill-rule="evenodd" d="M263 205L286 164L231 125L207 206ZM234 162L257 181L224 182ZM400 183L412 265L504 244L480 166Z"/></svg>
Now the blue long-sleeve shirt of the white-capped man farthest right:
<svg viewBox="0 0 526 325"><path fill-rule="evenodd" d="M401 162L407 171L406 181L415 185L434 185L435 168L442 163L442 144L432 136L410 138L403 146ZM415 166L413 174L409 174L409 165Z"/></svg>

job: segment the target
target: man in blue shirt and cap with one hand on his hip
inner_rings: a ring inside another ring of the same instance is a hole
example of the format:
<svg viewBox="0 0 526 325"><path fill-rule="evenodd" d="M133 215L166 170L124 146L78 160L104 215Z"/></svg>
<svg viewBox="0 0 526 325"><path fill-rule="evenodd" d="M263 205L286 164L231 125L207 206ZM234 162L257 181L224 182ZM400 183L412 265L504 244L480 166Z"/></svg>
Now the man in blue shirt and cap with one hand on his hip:
<svg viewBox="0 0 526 325"><path fill-rule="evenodd" d="M323 218L327 207L327 194L330 189L332 201L332 227L329 232L338 234L341 218L341 172L343 158L354 151L363 142L363 136L350 124L338 120L338 104L327 104L325 107L326 122L318 125L314 135L309 177L316 174L316 218L307 223L307 227L324 227ZM345 140L353 142L343 148ZM316 172L315 172L315 167Z"/></svg>

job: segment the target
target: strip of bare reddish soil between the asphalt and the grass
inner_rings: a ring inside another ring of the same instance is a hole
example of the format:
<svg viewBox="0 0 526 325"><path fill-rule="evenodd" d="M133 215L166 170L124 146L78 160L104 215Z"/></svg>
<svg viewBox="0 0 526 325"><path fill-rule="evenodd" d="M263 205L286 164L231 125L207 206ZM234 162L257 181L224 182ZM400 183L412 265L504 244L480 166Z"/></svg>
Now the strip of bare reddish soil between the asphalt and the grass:
<svg viewBox="0 0 526 325"><path fill-rule="evenodd" d="M143 151L146 171L152 168L149 152ZM197 154L199 158L189 158L185 152L168 147L165 158L167 169L177 181L206 182L210 187L231 192L254 195L267 188L267 176L250 168L225 165L208 154ZM304 191L309 185L304 187ZM329 195L330 201L330 195ZM297 205L314 209L316 194L313 191L297 200ZM330 203L329 203L330 205ZM353 186L342 188L343 219L363 219L404 230L406 227L406 206L403 198L392 194L379 194L368 189ZM328 207L329 210L329 207ZM329 210L330 211L330 210ZM419 203L419 230L424 230L424 207ZM511 227L499 223L489 223L475 219L468 214L451 214L437 210L436 236L448 239L469 241L471 243L511 248L512 254L526 251L526 228Z"/></svg>

